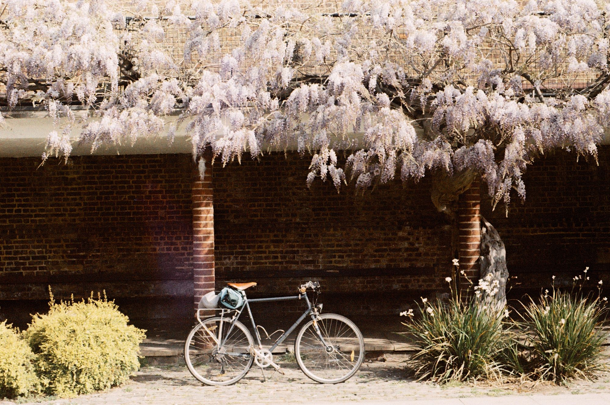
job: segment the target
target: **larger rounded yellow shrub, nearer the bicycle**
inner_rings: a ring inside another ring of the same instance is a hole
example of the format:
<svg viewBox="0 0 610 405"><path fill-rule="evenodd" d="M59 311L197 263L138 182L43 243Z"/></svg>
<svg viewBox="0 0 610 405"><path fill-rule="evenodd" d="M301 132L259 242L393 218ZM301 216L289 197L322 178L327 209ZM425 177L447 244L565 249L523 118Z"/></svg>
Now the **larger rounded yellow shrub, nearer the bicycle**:
<svg viewBox="0 0 610 405"><path fill-rule="evenodd" d="M60 302L51 294L49 313L34 315L24 332L37 355L47 393L63 397L120 385L138 370L145 330L104 298Z"/></svg>

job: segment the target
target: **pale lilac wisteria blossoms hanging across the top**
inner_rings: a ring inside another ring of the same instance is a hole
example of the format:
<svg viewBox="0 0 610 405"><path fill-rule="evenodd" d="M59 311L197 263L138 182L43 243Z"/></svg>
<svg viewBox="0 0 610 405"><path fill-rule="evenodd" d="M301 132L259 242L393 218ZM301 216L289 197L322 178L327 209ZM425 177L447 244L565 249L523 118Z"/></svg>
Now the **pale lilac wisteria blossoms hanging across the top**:
<svg viewBox="0 0 610 405"><path fill-rule="evenodd" d="M473 169L508 204L536 156L597 158L610 126L605 1L117 3L2 2L5 103L57 121L43 158L70 154L81 104L92 150L182 127L223 164L310 153L307 184Z"/></svg>

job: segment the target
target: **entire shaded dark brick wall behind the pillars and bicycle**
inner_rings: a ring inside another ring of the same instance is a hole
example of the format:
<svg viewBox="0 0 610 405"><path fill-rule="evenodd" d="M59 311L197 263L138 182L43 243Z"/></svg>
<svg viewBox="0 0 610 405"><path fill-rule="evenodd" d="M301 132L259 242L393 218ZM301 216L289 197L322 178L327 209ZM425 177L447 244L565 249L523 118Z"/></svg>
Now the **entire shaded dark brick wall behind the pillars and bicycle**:
<svg viewBox="0 0 610 405"><path fill-rule="evenodd" d="M481 203L506 243L509 271L528 286L584 266L608 274L609 152L601 148L600 166L567 153L539 159L526 173L525 205L515 202L508 219ZM51 284L59 296L105 288L132 317L192 314L193 208L208 198L196 195L209 195L209 180L196 191L190 156L38 163L0 159L0 312L21 299L44 309ZM427 179L337 194L320 181L306 188L308 163L274 154L214 167L217 288L254 280L251 294L270 296L317 279L325 308L348 315L395 313L447 291L451 224L434 210ZM209 216L202 211L195 232Z"/></svg>

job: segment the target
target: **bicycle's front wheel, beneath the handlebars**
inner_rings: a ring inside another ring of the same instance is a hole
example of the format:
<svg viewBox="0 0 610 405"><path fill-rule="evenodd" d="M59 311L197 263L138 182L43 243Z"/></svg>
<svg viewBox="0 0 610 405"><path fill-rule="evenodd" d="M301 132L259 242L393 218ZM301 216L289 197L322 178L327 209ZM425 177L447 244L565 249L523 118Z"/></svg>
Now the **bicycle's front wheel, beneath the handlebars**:
<svg viewBox="0 0 610 405"><path fill-rule="evenodd" d="M320 340L316 324L320 331ZM326 343L326 345L325 345ZM334 313L309 321L296 335L296 362L310 379L337 384L356 374L364 360L364 339L350 319Z"/></svg>

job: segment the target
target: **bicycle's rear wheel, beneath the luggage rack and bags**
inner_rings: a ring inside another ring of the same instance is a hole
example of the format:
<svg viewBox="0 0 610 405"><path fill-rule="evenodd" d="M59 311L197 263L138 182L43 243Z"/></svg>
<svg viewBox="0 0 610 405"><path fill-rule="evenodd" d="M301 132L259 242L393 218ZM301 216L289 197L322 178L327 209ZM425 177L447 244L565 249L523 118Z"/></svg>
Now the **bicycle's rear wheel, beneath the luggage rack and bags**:
<svg viewBox="0 0 610 405"><path fill-rule="evenodd" d="M231 385L248 373L252 335L240 321L209 318L197 324L184 343L184 360L193 377L207 385ZM228 334L228 335L227 335Z"/></svg>

